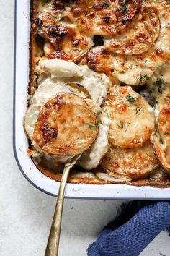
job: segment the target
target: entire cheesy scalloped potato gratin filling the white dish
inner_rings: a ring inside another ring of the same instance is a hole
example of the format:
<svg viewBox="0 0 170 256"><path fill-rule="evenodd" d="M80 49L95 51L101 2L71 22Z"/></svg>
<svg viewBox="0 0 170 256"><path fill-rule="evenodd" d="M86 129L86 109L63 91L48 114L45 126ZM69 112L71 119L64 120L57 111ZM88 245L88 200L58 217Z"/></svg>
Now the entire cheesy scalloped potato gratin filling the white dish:
<svg viewBox="0 0 170 256"><path fill-rule="evenodd" d="M170 186L169 0L32 0L28 89L43 174Z"/></svg>

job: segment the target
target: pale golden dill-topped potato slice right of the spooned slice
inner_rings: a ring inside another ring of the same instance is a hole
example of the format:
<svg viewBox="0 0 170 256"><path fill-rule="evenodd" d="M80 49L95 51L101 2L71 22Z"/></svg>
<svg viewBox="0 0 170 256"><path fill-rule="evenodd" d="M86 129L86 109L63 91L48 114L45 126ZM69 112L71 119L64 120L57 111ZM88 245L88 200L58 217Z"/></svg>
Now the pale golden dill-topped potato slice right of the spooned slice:
<svg viewBox="0 0 170 256"><path fill-rule="evenodd" d="M120 148L138 148L154 130L153 108L130 86L114 87L107 95L101 119L110 120L109 143Z"/></svg>

